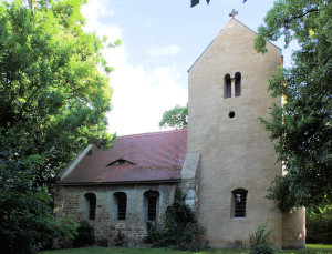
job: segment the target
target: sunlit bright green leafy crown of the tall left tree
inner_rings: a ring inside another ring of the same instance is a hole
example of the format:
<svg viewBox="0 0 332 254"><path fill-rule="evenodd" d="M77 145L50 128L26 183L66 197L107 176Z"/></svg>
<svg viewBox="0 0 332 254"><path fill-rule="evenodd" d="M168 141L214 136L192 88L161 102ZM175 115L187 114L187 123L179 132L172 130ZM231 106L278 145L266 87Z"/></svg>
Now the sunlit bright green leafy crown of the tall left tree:
<svg viewBox="0 0 332 254"><path fill-rule="evenodd" d="M38 154L38 185L87 143L106 143L112 90L98 71L102 41L84 33L83 0L23 1L0 9L0 132L14 140L17 158Z"/></svg>

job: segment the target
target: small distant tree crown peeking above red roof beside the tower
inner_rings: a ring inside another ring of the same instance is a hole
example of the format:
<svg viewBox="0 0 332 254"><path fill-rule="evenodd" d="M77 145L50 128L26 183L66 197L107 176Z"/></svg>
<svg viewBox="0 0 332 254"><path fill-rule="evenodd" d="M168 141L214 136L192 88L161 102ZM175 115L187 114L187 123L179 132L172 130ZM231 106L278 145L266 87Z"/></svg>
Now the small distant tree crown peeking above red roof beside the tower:
<svg viewBox="0 0 332 254"><path fill-rule="evenodd" d="M159 128L181 129L188 125L188 105L176 105L174 109L165 111L159 122Z"/></svg>

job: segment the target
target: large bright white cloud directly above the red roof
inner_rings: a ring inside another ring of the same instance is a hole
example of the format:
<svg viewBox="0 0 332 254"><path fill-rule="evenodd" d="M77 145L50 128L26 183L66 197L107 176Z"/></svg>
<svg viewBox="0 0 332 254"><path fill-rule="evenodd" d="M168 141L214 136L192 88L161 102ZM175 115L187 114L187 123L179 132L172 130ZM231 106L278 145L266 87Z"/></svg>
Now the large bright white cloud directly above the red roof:
<svg viewBox="0 0 332 254"><path fill-rule="evenodd" d="M158 131L164 111L187 102L187 90L173 79L177 72L172 67L148 72L123 60L124 64L111 74L114 94L110 130L118 135Z"/></svg>

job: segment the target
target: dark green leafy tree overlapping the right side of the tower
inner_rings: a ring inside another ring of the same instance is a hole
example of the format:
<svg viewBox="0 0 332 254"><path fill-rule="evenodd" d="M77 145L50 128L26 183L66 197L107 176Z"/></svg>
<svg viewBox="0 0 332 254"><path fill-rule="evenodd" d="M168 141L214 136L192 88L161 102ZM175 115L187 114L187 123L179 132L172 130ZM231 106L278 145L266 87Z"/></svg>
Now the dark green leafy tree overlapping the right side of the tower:
<svg viewBox="0 0 332 254"><path fill-rule="evenodd" d="M269 197L281 210L332 201L332 3L325 0L278 0L259 27L255 47L267 52L268 40L284 37L286 47L297 40L292 67L280 68L269 79L272 96L287 103L272 105L271 132L284 166Z"/></svg>

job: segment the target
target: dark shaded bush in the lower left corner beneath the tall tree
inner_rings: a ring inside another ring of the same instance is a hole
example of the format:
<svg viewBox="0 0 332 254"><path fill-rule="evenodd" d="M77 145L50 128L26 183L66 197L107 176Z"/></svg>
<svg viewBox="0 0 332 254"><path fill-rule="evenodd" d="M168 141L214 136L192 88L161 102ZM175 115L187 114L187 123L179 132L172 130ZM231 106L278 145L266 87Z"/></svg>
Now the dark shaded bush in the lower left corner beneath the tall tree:
<svg viewBox="0 0 332 254"><path fill-rule="evenodd" d="M18 186L8 186L6 181L1 182L3 172L0 172L0 185L4 182L0 186L0 253L35 253L51 248L54 240L73 237L75 223L70 217L61 220L52 215L45 191L33 190L23 177L15 180Z"/></svg>

